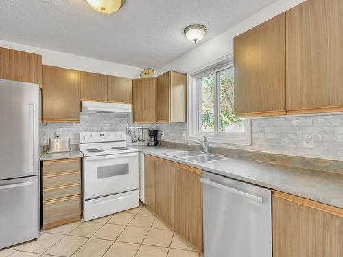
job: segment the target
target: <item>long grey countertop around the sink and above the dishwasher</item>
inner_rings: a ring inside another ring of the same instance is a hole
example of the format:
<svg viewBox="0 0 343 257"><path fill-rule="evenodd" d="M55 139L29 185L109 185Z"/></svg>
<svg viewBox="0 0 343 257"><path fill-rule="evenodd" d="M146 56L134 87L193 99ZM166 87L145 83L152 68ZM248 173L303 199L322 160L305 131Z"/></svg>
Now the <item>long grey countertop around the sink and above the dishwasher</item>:
<svg viewBox="0 0 343 257"><path fill-rule="evenodd" d="M215 162L191 162L165 155L165 153L182 151L182 149L148 146L131 147L135 147L145 154L187 164L228 178L343 208L343 175L340 174L230 157Z"/></svg>

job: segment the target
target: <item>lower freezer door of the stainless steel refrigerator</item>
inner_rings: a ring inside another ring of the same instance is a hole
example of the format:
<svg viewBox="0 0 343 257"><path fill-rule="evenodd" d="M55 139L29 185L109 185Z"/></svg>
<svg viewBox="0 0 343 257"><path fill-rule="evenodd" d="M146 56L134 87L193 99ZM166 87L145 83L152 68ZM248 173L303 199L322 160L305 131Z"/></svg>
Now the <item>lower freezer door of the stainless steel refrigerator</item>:
<svg viewBox="0 0 343 257"><path fill-rule="evenodd" d="M38 176L0 181L0 249L38 238Z"/></svg>

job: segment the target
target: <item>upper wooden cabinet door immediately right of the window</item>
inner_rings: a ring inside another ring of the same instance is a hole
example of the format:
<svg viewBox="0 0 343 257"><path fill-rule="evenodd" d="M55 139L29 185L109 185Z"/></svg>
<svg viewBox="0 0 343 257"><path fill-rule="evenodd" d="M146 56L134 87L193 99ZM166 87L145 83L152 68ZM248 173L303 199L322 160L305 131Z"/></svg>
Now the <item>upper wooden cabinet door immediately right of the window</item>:
<svg viewBox="0 0 343 257"><path fill-rule="evenodd" d="M285 114L285 13L235 37L235 115Z"/></svg>

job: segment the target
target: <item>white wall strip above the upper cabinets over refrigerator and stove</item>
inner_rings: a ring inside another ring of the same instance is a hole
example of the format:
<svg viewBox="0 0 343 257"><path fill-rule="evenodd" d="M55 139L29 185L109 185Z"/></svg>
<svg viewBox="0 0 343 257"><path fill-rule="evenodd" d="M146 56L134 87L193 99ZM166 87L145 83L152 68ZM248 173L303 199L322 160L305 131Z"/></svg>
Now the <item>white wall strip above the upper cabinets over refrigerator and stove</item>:
<svg viewBox="0 0 343 257"><path fill-rule="evenodd" d="M106 62L84 56L75 56L69 53L52 51L49 49L32 47L29 45L21 45L3 40L0 40L0 47L37 53L42 55L42 62L45 65L59 66L80 71L134 78L139 77L139 73L142 70L140 67L123 65L115 62Z"/></svg>

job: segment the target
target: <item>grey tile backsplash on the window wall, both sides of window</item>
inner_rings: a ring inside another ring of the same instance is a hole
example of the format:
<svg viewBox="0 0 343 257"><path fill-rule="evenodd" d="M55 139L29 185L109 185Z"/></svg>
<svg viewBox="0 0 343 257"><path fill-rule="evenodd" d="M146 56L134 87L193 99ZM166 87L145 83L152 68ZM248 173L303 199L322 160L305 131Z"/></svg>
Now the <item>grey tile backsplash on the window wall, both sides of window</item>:
<svg viewBox="0 0 343 257"><path fill-rule="evenodd" d="M185 143L187 123L158 124L162 140ZM252 119L252 145L210 144L343 160L343 114Z"/></svg>

